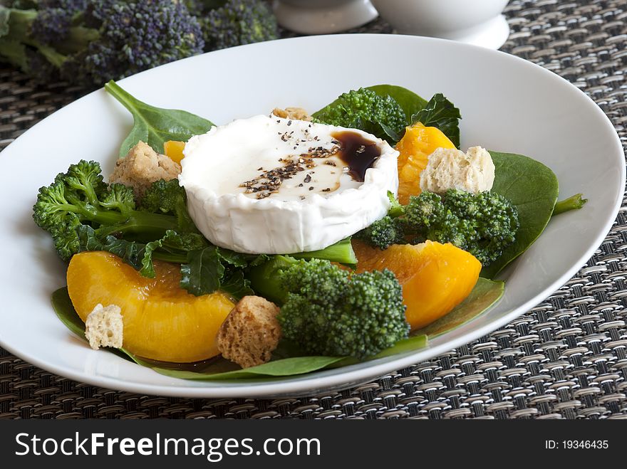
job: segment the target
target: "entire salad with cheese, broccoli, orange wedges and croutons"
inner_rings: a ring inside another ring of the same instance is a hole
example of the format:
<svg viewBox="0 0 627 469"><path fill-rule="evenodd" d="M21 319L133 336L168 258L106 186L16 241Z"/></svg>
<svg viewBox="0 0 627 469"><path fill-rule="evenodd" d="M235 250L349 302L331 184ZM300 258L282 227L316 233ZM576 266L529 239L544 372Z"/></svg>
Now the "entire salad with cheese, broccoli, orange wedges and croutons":
<svg viewBox="0 0 627 469"><path fill-rule="evenodd" d="M214 125L133 114L110 175L81 160L40 189L68 263L59 319L185 379L276 379L427 347L480 315L557 201L544 164L460 149L460 110L395 85Z"/></svg>

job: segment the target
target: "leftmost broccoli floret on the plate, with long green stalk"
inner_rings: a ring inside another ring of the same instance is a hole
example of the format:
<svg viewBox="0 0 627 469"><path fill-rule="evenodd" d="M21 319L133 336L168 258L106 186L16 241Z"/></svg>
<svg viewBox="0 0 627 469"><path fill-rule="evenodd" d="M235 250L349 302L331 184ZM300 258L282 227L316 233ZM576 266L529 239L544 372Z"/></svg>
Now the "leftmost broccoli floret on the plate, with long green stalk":
<svg viewBox="0 0 627 469"><path fill-rule="evenodd" d="M128 234L139 241L153 241L168 230L185 232L189 228L181 226L177 216L136 210L133 189L123 184L108 186L100 164L84 160L39 189L33 218L51 234L63 260L80 251L81 225L94 228L95 235L102 238Z"/></svg>

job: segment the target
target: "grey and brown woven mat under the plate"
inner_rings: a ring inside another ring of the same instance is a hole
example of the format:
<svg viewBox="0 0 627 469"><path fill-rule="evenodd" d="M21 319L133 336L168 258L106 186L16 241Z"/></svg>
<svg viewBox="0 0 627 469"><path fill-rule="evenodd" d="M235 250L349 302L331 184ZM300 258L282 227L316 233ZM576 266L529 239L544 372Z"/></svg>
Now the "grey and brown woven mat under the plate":
<svg viewBox="0 0 627 469"><path fill-rule="evenodd" d="M515 0L504 51L588 93L627 144L627 0ZM389 32L380 21L359 31ZM84 93L0 68L0 149ZM577 275L506 327L341 393L172 399L55 376L0 349L0 418L627 418L627 214Z"/></svg>

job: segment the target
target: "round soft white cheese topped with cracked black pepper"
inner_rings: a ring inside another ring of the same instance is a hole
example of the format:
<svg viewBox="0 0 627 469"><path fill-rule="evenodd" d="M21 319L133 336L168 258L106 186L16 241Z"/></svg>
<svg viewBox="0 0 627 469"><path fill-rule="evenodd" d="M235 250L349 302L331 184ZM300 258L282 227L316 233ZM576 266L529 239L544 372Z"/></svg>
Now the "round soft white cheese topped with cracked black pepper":
<svg viewBox="0 0 627 469"><path fill-rule="evenodd" d="M347 131L380 153L363 181L333 137ZM326 248L385 216L398 190L398 152L343 127L257 115L192 137L183 153L190 216L209 241L244 253Z"/></svg>

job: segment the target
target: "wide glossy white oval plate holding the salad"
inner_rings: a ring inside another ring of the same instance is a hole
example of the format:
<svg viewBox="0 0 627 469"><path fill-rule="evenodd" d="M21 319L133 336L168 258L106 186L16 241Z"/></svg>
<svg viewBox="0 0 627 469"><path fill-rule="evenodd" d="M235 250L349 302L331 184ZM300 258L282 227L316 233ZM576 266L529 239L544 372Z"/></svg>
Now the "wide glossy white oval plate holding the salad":
<svg viewBox="0 0 627 469"><path fill-rule="evenodd" d="M79 159L110 174L131 117L105 91L91 93L35 125L2 152L0 344L38 367L97 386L169 396L313 394L347 387L437 356L497 329L563 285L601 244L621 204L623 149L603 112L557 75L507 54L414 36L343 35L253 44L180 60L120 85L141 100L229 122L299 105L308 110L360 86L393 83L425 98L444 93L460 107L462 147L526 154L557 174L561 196L583 192L581 211L556 217L511 265L499 304L430 347L375 362L271 383L173 379L105 351L66 330L50 306L64 265L31 219L37 189Z"/></svg>

